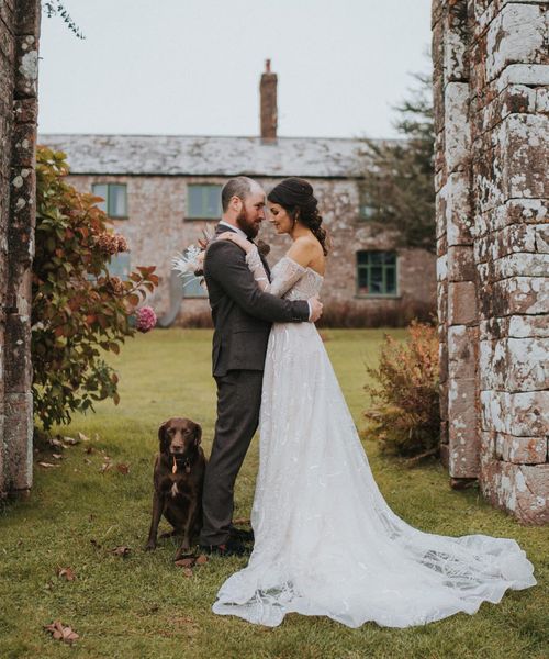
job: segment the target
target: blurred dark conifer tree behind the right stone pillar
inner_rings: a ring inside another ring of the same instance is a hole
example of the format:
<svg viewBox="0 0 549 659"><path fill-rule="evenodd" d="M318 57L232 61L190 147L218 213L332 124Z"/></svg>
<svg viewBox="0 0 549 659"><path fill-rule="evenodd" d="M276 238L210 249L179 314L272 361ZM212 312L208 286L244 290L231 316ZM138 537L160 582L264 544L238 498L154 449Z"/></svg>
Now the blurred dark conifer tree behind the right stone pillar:
<svg viewBox="0 0 549 659"><path fill-rule="evenodd" d="M397 230L397 243L436 252L433 91L430 76L395 110L396 141L365 139L361 214Z"/></svg>

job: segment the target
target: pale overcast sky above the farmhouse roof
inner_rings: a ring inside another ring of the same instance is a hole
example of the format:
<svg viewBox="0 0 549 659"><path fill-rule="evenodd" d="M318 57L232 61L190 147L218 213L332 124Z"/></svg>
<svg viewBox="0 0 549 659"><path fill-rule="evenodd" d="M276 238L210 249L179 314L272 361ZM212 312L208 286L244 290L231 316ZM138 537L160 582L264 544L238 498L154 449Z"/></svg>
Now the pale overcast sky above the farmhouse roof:
<svg viewBox="0 0 549 659"><path fill-rule="evenodd" d="M265 59L280 136L395 137L427 72L430 0L64 0L42 19L41 133L258 135Z"/></svg>

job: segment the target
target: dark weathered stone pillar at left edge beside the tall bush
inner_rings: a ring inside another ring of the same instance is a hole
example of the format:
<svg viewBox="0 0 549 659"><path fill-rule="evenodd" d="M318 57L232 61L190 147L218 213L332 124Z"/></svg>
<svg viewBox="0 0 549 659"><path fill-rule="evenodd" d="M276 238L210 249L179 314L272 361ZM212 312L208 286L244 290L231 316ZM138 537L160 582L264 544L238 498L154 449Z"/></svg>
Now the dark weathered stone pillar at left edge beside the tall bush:
<svg viewBox="0 0 549 659"><path fill-rule="evenodd" d="M0 495L32 484L38 0L0 4Z"/></svg>

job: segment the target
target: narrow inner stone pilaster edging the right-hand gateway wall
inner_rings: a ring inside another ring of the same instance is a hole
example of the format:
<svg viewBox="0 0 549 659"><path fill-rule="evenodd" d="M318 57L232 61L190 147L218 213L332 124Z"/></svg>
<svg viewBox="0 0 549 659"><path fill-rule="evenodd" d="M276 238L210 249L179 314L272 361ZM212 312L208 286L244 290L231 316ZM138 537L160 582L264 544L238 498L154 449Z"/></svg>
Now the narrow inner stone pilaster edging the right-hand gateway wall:
<svg viewBox="0 0 549 659"><path fill-rule="evenodd" d="M480 468L467 0L435 3L434 10L442 458L452 484L460 487L475 479Z"/></svg>

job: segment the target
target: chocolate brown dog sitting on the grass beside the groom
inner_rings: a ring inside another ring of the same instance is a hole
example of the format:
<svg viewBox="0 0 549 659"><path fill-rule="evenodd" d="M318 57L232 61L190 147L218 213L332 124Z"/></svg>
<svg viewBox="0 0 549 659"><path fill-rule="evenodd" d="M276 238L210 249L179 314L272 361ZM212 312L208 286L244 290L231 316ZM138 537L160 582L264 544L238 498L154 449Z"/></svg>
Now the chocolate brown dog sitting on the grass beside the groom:
<svg viewBox="0 0 549 659"><path fill-rule="evenodd" d="M189 418L169 418L158 428L159 454L154 471L155 493L147 550L155 549L164 515L173 526L166 536L182 535L176 560L189 551L202 525L202 485L205 458L200 447L202 428Z"/></svg>

